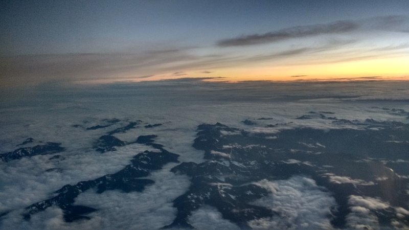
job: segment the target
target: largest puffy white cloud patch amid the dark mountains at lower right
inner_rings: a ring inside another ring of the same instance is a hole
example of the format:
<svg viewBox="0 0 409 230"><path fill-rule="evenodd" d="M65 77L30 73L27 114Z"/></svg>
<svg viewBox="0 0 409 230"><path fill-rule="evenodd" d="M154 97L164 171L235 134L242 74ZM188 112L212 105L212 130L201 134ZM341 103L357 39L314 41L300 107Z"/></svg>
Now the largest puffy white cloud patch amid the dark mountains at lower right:
<svg viewBox="0 0 409 230"><path fill-rule="evenodd" d="M255 202L279 213L272 218L249 222L254 229L332 229L328 216L336 206L335 199L323 192L310 178L294 176L288 180L257 183L271 195Z"/></svg>

